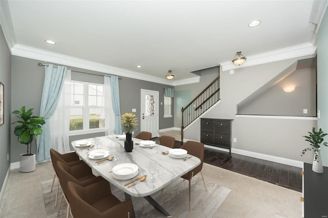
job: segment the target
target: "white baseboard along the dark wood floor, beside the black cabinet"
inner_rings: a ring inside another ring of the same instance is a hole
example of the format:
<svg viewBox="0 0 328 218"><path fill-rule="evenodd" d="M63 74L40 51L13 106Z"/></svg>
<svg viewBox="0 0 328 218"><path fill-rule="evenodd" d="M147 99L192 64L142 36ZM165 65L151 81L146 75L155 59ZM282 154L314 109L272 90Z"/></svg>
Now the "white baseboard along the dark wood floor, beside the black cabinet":
<svg viewBox="0 0 328 218"><path fill-rule="evenodd" d="M195 141L195 140L183 139L183 142L186 142L186 141ZM222 151L229 152L229 149L225 149L225 148L220 148L220 147L206 145L206 144L204 144L204 146L208 147L208 148L216 149L216 150L222 150ZM266 160L266 161L272 161L272 162L286 164L286 165L290 165L290 166L296 166L296 167L300 167L300 168L303 167L302 161L296 161L296 160L291 160L291 159L287 159L287 158L265 155L265 154L260 154L260 153L248 151L248 150L241 150L241 149L237 149L237 148L231 148L231 152L233 154L244 155L244 156L258 158L258 159L262 159L262 160Z"/></svg>

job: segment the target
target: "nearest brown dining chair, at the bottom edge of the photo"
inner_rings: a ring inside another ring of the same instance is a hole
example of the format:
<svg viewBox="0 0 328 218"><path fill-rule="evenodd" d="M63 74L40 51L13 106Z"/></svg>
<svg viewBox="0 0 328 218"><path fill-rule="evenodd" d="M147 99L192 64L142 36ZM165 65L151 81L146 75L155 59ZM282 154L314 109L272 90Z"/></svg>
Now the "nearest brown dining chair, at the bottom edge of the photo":
<svg viewBox="0 0 328 218"><path fill-rule="evenodd" d="M112 193L108 182L101 181L83 187L67 183L72 215L78 218L122 217L132 215L132 201L120 202Z"/></svg>

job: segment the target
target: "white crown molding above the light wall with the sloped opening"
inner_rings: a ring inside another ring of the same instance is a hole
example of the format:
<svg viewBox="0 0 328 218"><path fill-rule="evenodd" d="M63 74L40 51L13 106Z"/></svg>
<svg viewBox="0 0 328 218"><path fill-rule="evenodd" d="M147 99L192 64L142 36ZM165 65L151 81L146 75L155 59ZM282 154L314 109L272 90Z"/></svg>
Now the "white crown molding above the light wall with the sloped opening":
<svg viewBox="0 0 328 218"><path fill-rule="evenodd" d="M229 71L239 68L245 68L250 66L255 66L262 63L269 63L279 60L286 60L296 57L302 57L306 55L314 55L316 54L316 47L312 45L312 43L304 43L297 46L292 46L288 48L278 49L271 52L265 52L257 55L252 55L247 57L247 61L245 61L242 65L237 66L232 61L221 62L222 71Z"/></svg>

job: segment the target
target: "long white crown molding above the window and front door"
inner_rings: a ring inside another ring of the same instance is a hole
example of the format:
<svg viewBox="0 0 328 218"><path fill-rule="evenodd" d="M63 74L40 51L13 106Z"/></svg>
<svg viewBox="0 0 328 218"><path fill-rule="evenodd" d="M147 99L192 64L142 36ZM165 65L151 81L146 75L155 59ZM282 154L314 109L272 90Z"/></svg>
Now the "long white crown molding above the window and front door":
<svg viewBox="0 0 328 218"><path fill-rule="evenodd" d="M145 80L149 82L155 82L160 84L166 84L166 85L181 85L181 84L190 84L199 82L198 77L188 78L188 79L181 79L181 80L168 80L166 78L159 78L156 76L148 75L148 74L142 74L135 71L125 70L121 68L116 68L113 66L109 66L102 63L97 63L93 61L88 61L85 59L75 58L72 56L62 55L54 52L48 52L41 49L35 49L28 46L23 46L16 44L11 49L12 55L20 56L20 57L26 57L31 58L35 60L40 61L46 61L46 62L52 62L56 64L63 64L65 66L70 67L76 67L76 68L82 68L85 70L92 70L107 74L113 74L117 76L123 76L123 77L129 77L133 79L140 79Z"/></svg>

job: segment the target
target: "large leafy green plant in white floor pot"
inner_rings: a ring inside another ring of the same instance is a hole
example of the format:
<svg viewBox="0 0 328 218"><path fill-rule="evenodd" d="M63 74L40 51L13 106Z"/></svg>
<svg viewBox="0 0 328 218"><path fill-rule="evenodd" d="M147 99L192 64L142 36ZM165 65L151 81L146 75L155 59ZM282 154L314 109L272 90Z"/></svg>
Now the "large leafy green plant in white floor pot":
<svg viewBox="0 0 328 218"><path fill-rule="evenodd" d="M19 120L11 124L20 124L15 126L14 134L17 136L18 142L27 146L26 154L20 155L19 171L21 172L31 172L35 170L35 154L31 154L32 142L34 137L36 141L37 136L43 133L41 126L46 123L45 117L32 116L33 110L34 108L31 108L26 111L25 106L23 106L20 108L20 111L12 112L16 114Z"/></svg>

